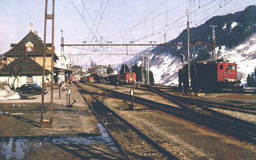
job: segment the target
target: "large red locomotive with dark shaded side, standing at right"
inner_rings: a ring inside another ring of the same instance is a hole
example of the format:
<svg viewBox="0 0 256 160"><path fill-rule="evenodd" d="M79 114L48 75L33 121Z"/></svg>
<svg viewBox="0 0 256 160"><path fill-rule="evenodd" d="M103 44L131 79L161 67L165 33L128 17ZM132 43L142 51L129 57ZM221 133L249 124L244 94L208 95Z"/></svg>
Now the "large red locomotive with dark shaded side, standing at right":
<svg viewBox="0 0 256 160"><path fill-rule="evenodd" d="M237 77L237 64L225 60L191 63L190 79L194 92L243 90L243 86L239 86L241 79ZM185 92L189 90L188 65L179 69L179 87Z"/></svg>

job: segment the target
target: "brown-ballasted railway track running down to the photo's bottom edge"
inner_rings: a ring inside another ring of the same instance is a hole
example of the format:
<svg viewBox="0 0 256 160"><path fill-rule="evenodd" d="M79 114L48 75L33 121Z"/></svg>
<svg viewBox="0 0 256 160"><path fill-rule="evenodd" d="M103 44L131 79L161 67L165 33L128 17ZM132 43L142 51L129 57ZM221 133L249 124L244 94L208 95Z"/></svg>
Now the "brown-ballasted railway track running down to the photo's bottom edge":
<svg viewBox="0 0 256 160"><path fill-rule="evenodd" d="M120 144L127 159L178 159L102 102L106 95L111 94L111 90L103 90L102 93L93 95L81 86L77 87L114 141ZM90 101L86 99L88 94L92 97Z"/></svg>

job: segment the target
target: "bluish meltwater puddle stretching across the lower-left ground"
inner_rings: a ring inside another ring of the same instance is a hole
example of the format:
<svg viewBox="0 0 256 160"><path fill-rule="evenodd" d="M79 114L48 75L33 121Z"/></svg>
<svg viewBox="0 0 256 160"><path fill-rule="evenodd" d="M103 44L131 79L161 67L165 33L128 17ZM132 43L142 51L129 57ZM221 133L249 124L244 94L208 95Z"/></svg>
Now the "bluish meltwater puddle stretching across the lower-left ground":
<svg viewBox="0 0 256 160"><path fill-rule="evenodd" d="M49 146L73 145L109 145L118 152L115 143L101 124L97 124L101 134L79 133L74 137L8 137L0 138L0 159L24 159L29 150L48 148ZM27 154L27 156L26 156Z"/></svg>

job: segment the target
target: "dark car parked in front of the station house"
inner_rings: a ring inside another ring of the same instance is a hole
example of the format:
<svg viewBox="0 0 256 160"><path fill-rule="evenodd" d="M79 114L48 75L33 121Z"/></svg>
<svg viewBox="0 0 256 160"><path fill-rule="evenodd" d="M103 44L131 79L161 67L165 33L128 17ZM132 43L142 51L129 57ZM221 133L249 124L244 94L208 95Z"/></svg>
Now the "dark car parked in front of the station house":
<svg viewBox="0 0 256 160"><path fill-rule="evenodd" d="M30 93L34 93L34 94L39 94L39 93L42 93L42 87L39 86L38 84L23 84L21 87L18 87L16 89L17 92L20 92L20 94L23 94L23 93L27 93L27 94L30 94ZM44 91L44 94L48 93L47 90Z"/></svg>

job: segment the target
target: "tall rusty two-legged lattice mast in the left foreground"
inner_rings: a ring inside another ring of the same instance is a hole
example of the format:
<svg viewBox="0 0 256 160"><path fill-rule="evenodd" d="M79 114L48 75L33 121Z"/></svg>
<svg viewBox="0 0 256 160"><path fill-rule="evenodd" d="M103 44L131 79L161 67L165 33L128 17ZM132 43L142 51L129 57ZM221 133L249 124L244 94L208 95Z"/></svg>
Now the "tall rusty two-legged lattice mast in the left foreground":
<svg viewBox="0 0 256 160"><path fill-rule="evenodd" d="M52 14L47 14L47 4L48 0L45 0L45 19L44 19L44 55L43 55L43 76L42 76L42 108L41 108L41 128L50 128L52 129L52 117L53 117L53 73L54 73L54 0L52 0ZM52 50L46 50L46 22L47 19L52 20ZM50 53L52 54L52 61L51 61L51 108L50 108L50 121L43 121L43 114L44 114L44 90L45 90L45 54Z"/></svg>

